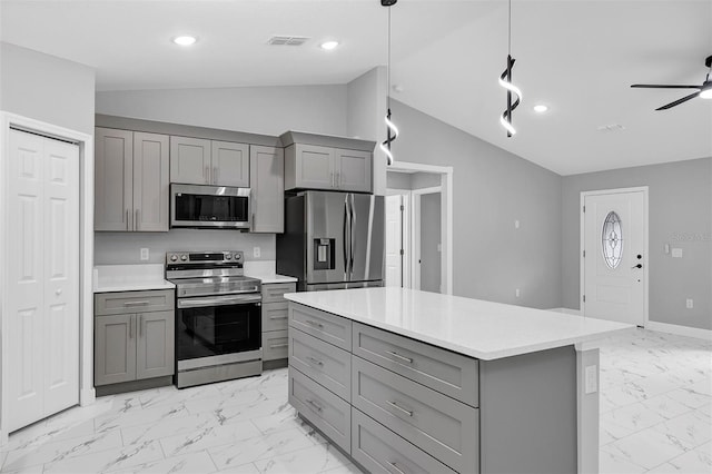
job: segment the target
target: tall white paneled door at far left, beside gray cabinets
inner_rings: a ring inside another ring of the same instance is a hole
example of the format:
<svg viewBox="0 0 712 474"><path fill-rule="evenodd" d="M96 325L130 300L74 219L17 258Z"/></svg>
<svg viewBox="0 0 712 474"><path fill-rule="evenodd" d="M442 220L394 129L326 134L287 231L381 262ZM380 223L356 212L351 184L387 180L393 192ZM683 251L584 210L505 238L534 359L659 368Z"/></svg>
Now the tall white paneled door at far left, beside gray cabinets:
<svg viewBox="0 0 712 474"><path fill-rule="evenodd" d="M79 148L10 130L8 431L79 402Z"/></svg>

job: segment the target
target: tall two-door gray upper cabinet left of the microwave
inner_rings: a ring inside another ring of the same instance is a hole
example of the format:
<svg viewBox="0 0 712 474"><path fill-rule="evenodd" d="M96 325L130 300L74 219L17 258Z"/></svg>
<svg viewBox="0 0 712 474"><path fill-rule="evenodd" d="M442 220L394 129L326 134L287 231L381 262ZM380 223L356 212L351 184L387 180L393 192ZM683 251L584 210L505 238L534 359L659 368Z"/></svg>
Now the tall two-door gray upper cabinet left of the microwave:
<svg viewBox="0 0 712 474"><path fill-rule="evenodd" d="M95 230L168 231L168 137L97 128Z"/></svg>

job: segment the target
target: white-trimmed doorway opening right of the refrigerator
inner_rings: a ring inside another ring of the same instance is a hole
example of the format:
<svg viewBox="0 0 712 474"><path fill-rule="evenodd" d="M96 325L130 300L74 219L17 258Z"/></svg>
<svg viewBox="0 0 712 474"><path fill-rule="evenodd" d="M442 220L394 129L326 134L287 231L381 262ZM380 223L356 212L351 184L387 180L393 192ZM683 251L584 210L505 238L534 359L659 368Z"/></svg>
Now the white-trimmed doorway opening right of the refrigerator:
<svg viewBox="0 0 712 474"><path fill-rule="evenodd" d="M452 294L452 167L388 168L386 286Z"/></svg>

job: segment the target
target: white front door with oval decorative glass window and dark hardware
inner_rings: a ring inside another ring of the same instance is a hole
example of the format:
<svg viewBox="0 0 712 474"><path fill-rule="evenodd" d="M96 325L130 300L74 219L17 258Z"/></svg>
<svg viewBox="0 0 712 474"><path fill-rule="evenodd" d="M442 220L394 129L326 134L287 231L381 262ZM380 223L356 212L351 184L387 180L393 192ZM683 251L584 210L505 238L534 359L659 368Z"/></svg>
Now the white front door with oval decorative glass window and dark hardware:
<svg viewBox="0 0 712 474"><path fill-rule="evenodd" d="M583 315L643 326L646 190L584 192Z"/></svg>

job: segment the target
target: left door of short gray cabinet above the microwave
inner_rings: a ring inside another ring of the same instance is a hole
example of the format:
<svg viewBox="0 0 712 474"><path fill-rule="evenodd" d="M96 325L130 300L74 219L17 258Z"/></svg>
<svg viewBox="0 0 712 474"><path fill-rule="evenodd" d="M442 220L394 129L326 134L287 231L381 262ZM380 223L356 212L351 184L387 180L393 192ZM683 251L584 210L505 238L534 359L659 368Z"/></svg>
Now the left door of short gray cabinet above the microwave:
<svg viewBox="0 0 712 474"><path fill-rule="evenodd" d="M211 182L210 140L170 137L170 182Z"/></svg>

